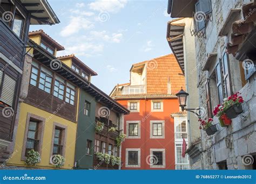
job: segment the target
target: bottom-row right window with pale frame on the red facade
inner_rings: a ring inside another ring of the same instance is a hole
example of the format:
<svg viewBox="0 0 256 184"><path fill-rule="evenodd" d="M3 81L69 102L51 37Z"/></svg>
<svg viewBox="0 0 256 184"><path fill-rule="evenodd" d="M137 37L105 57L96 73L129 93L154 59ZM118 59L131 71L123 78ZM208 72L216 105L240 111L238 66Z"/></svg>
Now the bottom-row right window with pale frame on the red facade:
<svg viewBox="0 0 256 184"><path fill-rule="evenodd" d="M151 148L150 157L150 168L165 168L165 148Z"/></svg>

